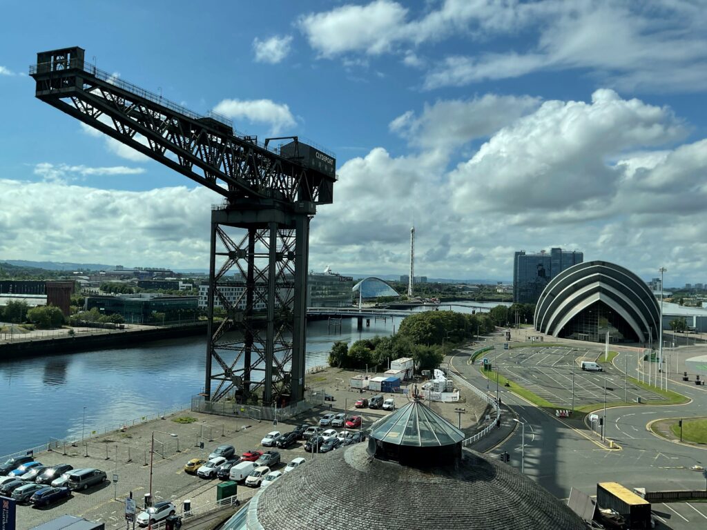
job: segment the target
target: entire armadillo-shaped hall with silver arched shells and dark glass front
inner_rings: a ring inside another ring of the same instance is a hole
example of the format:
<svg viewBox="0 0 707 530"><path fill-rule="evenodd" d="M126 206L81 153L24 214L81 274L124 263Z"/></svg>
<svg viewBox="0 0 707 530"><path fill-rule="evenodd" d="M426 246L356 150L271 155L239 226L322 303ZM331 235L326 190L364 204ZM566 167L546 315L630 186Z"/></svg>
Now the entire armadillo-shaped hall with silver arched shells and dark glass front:
<svg viewBox="0 0 707 530"><path fill-rule="evenodd" d="M648 343L658 336L660 308L641 278L608 261L562 271L535 307L535 329L551 336L603 342Z"/></svg>

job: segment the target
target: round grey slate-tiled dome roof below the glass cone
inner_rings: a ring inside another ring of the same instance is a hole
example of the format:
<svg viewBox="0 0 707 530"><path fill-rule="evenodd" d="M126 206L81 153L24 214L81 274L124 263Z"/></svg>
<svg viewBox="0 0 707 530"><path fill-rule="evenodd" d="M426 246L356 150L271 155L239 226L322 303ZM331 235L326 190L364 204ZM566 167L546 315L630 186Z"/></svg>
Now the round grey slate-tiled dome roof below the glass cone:
<svg viewBox="0 0 707 530"><path fill-rule="evenodd" d="M248 530L585 530L563 502L512 467L462 451L420 468L370 457L366 444L318 454L251 500Z"/></svg>

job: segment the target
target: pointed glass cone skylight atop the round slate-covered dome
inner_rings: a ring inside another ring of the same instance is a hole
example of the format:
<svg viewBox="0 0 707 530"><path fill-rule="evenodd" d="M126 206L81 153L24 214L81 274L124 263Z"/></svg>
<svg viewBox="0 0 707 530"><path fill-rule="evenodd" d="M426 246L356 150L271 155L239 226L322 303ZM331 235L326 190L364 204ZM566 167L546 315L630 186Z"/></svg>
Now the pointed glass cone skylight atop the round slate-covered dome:
<svg viewBox="0 0 707 530"><path fill-rule="evenodd" d="M371 425L370 437L389 444L440 447L461 442L464 432L415 400Z"/></svg>

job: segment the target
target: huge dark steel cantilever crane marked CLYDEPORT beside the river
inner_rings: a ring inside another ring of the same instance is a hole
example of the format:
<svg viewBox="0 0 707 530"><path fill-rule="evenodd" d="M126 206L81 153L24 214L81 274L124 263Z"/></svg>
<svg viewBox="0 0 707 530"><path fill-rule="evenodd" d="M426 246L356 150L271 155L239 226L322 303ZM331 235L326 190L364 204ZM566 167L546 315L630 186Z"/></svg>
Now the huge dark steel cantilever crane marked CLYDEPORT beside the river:
<svg viewBox="0 0 707 530"><path fill-rule="evenodd" d="M84 54L38 53L30 66L36 97L224 197L211 211L205 399L300 401L309 225L317 204L333 201L333 153L297 136L238 136L225 117L187 110L86 64Z"/></svg>

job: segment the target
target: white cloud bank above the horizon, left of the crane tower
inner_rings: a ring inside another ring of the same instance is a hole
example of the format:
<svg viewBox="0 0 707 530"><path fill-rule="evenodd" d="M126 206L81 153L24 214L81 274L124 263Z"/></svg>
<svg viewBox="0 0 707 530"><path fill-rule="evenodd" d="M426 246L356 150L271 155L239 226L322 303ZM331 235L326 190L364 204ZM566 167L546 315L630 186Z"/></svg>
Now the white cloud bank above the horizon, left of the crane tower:
<svg viewBox="0 0 707 530"><path fill-rule="evenodd" d="M127 192L0 179L0 194L2 256L208 266L210 204L218 196L204 187Z"/></svg>

